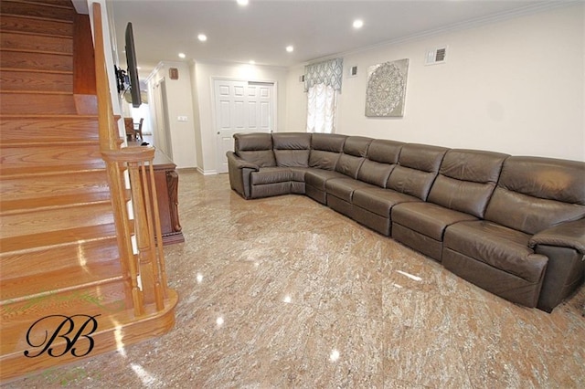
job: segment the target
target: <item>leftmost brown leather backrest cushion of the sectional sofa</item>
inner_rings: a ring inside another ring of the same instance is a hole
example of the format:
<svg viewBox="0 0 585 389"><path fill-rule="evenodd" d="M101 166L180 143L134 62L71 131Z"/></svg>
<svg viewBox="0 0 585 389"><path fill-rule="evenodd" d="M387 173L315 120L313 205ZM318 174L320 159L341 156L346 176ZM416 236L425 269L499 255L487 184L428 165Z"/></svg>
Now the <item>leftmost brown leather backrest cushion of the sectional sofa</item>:
<svg viewBox="0 0 585 389"><path fill-rule="evenodd" d="M270 133L236 133L234 140L234 152L242 160L260 167L276 166Z"/></svg>

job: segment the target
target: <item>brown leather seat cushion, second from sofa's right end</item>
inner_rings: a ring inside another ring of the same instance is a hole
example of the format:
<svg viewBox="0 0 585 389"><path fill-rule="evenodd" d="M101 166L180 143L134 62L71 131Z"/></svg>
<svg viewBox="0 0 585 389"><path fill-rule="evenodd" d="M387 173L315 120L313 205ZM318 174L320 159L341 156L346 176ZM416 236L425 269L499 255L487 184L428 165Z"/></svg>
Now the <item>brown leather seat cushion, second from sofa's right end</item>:
<svg viewBox="0 0 585 389"><path fill-rule="evenodd" d="M447 226L465 220L477 220L475 216L454 211L432 203L402 203L392 208L392 222L410 228L427 237L442 241Z"/></svg>

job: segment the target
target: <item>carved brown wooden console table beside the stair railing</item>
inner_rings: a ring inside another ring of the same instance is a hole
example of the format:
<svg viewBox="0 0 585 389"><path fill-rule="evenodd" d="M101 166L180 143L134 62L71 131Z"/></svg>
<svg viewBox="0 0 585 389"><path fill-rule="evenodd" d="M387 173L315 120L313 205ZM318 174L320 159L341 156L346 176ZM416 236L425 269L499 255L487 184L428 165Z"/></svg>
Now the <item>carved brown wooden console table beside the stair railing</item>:
<svg viewBox="0 0 585 389"><path fill-rule="evenodd" d="M158 199L158 212L161 218L163 246L185 242L182 227L179 223L178 184L179 175L176 173L176 164L163 152L154 152L154 186Z"/></svg>

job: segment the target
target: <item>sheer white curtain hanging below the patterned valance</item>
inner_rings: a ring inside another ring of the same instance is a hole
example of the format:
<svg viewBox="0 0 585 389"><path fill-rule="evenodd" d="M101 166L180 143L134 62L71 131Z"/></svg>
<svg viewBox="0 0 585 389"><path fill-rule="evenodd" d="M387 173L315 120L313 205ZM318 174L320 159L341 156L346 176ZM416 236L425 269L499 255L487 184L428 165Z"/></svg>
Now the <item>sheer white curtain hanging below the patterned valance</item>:
<svg viewBox="0 0 585 389"><path fill-rule="evenodd" d="M307 92L307 132L335 132L337 91L330 85L315 84Z"/></svg>

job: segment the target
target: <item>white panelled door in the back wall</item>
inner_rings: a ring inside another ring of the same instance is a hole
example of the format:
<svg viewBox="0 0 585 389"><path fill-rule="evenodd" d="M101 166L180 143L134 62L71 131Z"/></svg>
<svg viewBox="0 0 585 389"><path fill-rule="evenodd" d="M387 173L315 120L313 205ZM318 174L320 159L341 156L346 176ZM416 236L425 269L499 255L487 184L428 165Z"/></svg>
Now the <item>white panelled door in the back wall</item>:
<svg viewBox="0 0 585 389"><path fill-rule="evenodd" d="M218 173L228 173L226 152L234 150L237 132L271 132L274 118L274 84L214 80Z"/></svg>

